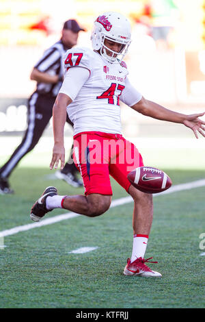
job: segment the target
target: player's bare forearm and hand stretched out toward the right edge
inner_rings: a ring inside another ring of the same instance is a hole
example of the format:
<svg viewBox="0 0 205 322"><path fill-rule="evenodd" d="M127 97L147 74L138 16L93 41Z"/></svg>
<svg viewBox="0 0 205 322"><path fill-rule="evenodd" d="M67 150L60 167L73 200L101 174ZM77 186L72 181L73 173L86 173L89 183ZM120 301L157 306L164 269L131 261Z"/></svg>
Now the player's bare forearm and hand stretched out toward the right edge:
<svg viewBox="0 0 205 322"><path fill-rule="evenodd" d="M145 99L144 97L142 97L142 99L134 106L131 106L131 108L143 115L150 116L153 119L184 124L192 129L196 138L198 138L197 132L205 137L205 122L199 119L199 117L203 116L205 112L190 115L181 114L168 110L167 108L164 108L163 106L152 101L148 101L148 99Z"/></svg>

